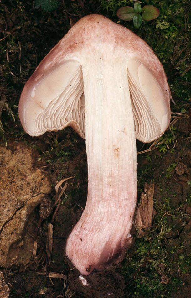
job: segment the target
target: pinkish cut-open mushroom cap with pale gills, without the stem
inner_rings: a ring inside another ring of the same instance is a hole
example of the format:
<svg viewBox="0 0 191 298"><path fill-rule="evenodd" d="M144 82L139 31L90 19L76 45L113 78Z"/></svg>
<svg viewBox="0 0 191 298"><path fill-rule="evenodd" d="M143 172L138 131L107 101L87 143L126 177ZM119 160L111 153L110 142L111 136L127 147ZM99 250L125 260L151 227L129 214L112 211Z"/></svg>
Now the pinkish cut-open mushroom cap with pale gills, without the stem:
<svg viewBox="0 0 191 298"><path fill-rule="evenodd" d="M136 138L150 142L162 135L170 121L163 66L136 34L96 14L81 18L27 81L18 106L24 130L38 136L70 125L85 138L83 73L92 57L126 64Z"/></svg>

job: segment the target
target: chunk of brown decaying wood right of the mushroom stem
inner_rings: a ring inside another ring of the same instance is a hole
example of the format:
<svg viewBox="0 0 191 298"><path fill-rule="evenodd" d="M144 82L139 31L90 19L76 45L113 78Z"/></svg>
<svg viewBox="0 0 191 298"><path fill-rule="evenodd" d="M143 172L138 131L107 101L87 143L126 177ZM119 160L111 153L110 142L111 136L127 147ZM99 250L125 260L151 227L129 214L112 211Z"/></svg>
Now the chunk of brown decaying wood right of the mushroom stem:
<svg viewBox="0 0 191 298"><path fill-rule="evenodd" d="M142 238L152 225L154 183L145 183L141 193L140 202L135 216L135 227L138 229L137 237Z"/></svg>

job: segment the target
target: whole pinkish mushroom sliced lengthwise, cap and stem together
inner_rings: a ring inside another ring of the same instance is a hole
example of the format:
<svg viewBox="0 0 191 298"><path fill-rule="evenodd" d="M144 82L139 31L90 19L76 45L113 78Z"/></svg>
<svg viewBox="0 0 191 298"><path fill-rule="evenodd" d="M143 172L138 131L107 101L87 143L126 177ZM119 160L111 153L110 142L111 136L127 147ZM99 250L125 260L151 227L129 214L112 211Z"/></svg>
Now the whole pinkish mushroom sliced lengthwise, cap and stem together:
<svg viewBox="0 0 191 298"><path fill-rule="evenodd" d="M136 138L169 125L163 67L137 35L101 15L81 18L24 86L19 117L31 136L70 125L86 139L88 196L66 243L83 275L118 262L132 241L137 202Z"/></svg>

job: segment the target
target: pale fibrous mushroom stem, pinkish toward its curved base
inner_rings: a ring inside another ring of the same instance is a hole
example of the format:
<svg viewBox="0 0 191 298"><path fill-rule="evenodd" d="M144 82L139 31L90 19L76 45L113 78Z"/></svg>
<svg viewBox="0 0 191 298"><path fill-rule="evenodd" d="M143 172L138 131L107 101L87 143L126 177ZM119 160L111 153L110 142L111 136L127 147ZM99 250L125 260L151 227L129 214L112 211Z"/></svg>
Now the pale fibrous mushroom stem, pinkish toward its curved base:
<svg viewBox="0 0 191 298"><path fill-rule="evenodd" d="M82 63L88 197L66 254L83 275L117 261L131 243L137 201L136 139L127 67L97 58ZM94 65L94 71L90 65Z"/></svg>

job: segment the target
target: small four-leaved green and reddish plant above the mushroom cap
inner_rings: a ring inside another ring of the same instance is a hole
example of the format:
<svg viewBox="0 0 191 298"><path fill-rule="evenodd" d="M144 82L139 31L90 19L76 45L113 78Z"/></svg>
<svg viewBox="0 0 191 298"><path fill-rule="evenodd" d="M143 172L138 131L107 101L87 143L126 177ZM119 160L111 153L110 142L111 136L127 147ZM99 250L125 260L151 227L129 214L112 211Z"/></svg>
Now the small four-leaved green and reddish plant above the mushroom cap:
<svg viewBox="0 0 191 298"><path fill-rule="evenodd" d="M141 14L142 13L142 16ZM133 21L135 28L139 28L142 20L151 21L159 16L159 10L153 5L145 5L143 8L139 1L135 1L134 8L124 6L118 9L117 16L124 21Z"/></svg>

